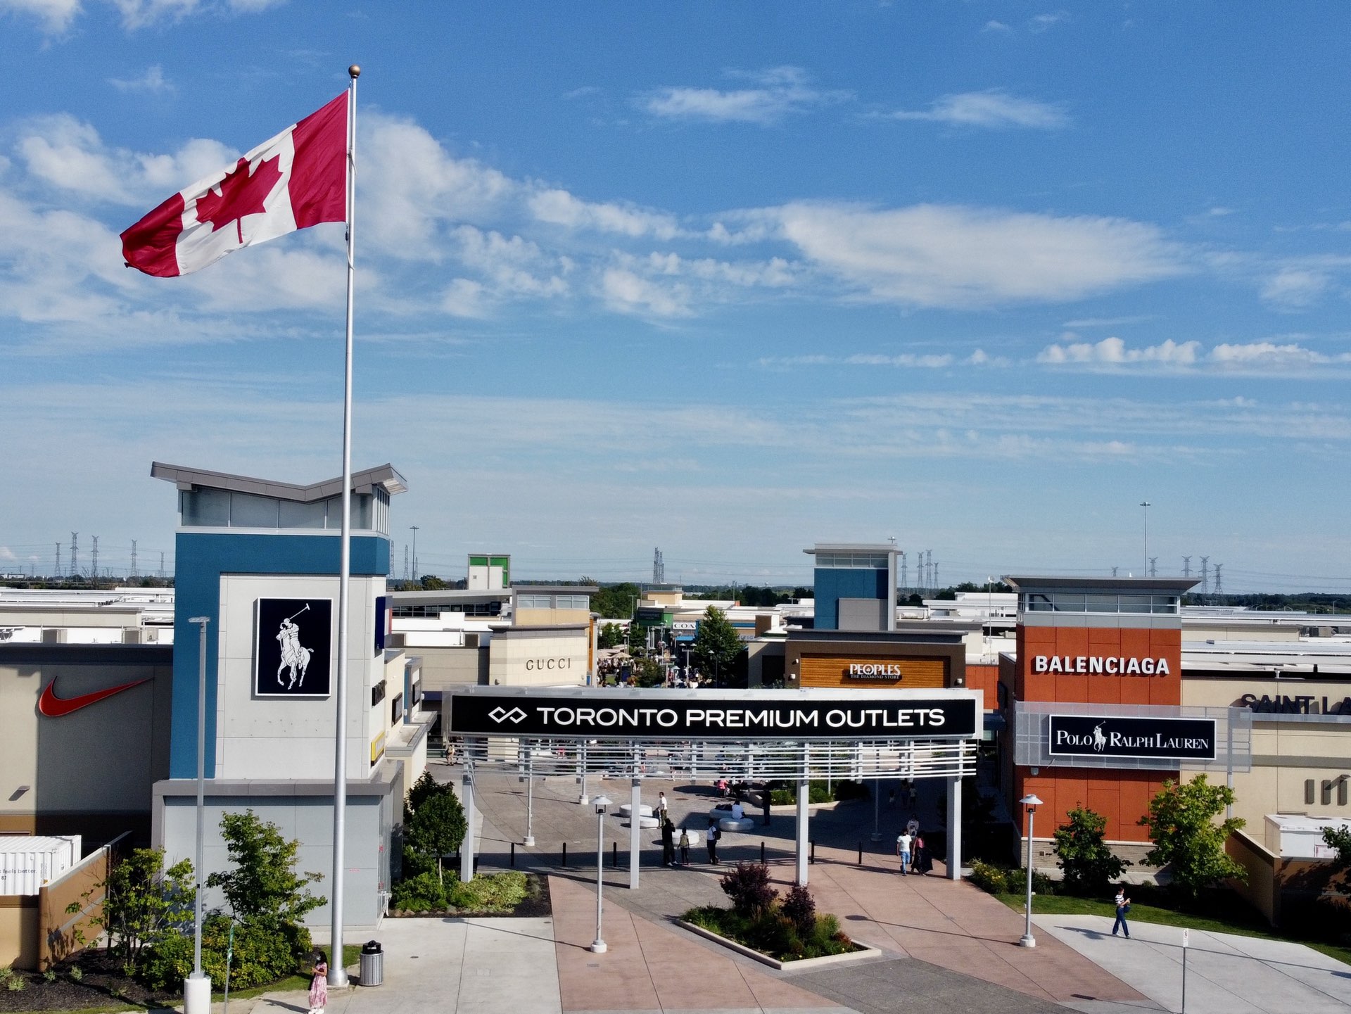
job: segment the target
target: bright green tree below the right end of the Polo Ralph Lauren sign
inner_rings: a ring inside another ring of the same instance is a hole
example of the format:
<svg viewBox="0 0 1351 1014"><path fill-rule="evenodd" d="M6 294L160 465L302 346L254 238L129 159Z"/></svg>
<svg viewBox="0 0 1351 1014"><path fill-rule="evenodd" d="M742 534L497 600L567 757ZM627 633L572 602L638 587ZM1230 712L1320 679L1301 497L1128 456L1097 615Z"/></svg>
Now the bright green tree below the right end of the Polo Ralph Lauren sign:
<svg viewBox="0 0 1351 1014"><path fill-rule="evenodd" d="M1225 806L1233 805L1233 790L1213 786L1205 775L1178 783L1167 779L1150 801L1150 813L1140 818L1154 841L1144 860L1169 865L1173 888L1190 898L1225 878L1247 880L1247 871L1229 859L1224 843L1246 821L1231 817L1216 822Z"/></svg>

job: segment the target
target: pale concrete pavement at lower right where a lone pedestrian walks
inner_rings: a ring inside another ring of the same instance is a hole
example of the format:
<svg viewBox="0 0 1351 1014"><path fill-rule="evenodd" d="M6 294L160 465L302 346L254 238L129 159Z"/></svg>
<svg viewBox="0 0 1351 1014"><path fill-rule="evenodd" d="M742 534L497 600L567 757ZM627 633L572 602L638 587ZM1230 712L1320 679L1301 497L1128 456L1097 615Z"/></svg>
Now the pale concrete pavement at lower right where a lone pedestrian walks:
<svg viewBox="0 0 1351 1014"><path fill-rule="evenodd" d="M1158 1009L1181 1010L1181 929L1132 922L1127 940L1112 936L1112 919L1105 915L1034 915L1032 922L1038 949L1047 937L1058 940L1133 986ZM1285 940L1201 930L1190 936L1188 1014L1351 1014L1351 965ZM1073 1000L1067 1006L1094 1014L1115 1010Z"/></svg>

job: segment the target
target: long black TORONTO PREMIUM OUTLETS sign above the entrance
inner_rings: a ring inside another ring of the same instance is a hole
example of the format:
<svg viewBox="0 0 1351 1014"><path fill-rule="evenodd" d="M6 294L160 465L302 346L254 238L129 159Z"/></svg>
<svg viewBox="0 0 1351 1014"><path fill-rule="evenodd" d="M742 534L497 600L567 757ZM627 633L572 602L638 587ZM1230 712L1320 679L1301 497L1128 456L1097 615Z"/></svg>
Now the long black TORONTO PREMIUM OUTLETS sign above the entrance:
<svg viewBox="0 0 1351 1014"><path fill-rule="evenodd" d="M688 697L615 691L570 695L451 694L455 736L676 740L973 739L973 698L867 698L817 694L792 699Z"/></svg>

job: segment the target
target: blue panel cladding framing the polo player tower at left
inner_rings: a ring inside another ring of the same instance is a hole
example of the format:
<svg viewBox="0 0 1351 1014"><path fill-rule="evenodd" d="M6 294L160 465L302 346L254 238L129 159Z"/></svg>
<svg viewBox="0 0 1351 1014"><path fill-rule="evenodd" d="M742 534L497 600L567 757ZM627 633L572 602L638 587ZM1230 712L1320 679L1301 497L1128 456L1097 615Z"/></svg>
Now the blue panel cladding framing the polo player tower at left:
<svg viewBox="0 0 1351 1014"><path fill-rule="evenodd" d="M207 624L207 778L216 776L216 659L220 636L222 574L338 575L342 539L315 535L228 535L178 532L174 539L173 720L169 730L169 778L197 776L199 633L193 616ZM389 540L353 536L351 574L389 574Z"/></svg>

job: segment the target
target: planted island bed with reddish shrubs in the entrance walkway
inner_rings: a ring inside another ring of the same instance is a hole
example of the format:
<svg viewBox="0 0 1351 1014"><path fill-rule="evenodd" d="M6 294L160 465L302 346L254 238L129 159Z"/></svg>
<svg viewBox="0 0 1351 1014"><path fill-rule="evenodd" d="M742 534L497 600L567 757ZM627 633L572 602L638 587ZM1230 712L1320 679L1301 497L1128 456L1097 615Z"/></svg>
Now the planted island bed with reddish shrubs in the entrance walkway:
<svg viewBox="0 0 1351 1014"><path fill-rule="evenodd" d="M774 968L878 953L850 940L834 915L817 914L805 886L796 886L780 898L769 883L769 868L761 863L738 863L723 875L721 886L732 899L731 909L716 905L690 909L678 919L680 925Z"/></svg>

